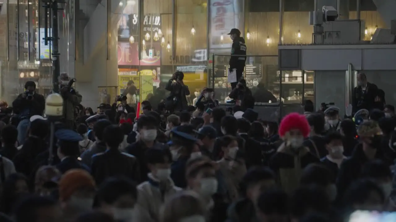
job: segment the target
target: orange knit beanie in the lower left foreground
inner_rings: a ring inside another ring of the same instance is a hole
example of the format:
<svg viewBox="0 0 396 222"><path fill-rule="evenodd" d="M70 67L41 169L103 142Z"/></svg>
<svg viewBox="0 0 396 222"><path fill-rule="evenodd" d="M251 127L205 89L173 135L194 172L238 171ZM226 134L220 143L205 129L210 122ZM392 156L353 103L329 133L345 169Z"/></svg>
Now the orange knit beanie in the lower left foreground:
<svg viewBox="0 0 396 222"><path fill-rule="evenodd" d="M71 169L61 177L58 184L59 200L68 201L79 189L95 189L95 180L84 169Z"/></svg>

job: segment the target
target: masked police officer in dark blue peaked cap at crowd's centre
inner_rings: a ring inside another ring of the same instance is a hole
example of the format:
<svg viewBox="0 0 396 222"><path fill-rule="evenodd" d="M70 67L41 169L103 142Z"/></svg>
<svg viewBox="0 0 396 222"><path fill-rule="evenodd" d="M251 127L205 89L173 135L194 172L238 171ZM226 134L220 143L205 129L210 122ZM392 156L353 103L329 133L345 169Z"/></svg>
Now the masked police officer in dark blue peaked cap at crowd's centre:
<svg viewBox="0 0 396 222"><path fill-rule="evenodd" d="M171 178L175 185L181 188L187 187L185 179L185 168L188 159L194 159L199 154L191 154L198 152L197 139L194 136L194 127L190 125L178 126L171 132L171 145L170 150L172 154L173 163L171 165L172 173Z"/></svg>

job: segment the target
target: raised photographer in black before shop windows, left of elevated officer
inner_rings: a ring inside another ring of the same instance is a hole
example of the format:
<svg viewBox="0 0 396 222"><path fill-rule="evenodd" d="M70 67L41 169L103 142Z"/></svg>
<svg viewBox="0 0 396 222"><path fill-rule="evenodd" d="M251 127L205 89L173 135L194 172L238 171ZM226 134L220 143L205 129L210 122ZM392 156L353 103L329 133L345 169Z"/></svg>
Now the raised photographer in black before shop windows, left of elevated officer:
<svg viewBox="0 0 396 222"><path fill-rule="evenodd" d="M166 98L165 105L169 111L183 111L187 109L188 103L186 96L190 95L188 86L183 82L184 73L177 71L173 73L172 78L169 79L165 89L171 94Z"/></svg>

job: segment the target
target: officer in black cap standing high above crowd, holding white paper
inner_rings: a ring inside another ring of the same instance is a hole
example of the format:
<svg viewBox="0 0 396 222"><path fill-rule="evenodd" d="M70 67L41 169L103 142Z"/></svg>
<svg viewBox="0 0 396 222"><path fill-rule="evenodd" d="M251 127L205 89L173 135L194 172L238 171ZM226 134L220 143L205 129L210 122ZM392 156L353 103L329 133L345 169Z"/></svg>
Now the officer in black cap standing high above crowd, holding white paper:
<svg viewBox="0 0 396 222"><path fill-rule="evenodd" d="M246 45L245 40L241 37L241 32L237 28L231 29L230 38L232 39L232 49L231 49L231 58L229 64L229 71L236 69L236 82L231 83L232 89L236 87L236 84L242 77L242 72L245 68L246 62Z"/></svg>

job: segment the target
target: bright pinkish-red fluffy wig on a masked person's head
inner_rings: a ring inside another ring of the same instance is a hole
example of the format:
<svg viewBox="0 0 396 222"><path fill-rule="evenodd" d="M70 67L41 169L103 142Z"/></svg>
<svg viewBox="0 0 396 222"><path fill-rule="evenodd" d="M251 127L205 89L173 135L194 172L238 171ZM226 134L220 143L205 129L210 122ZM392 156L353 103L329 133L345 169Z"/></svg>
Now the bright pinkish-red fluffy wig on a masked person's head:
<svg viewBox="0 0 396 222"><path fill-rule="evenodd" d="M300 130L304 137L308 137L311 131L307 118L299 113L290 113L282 119L279 126L279 135L283 137L293 129Z"/></svg>

